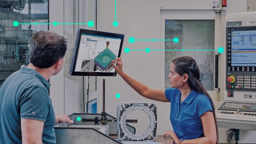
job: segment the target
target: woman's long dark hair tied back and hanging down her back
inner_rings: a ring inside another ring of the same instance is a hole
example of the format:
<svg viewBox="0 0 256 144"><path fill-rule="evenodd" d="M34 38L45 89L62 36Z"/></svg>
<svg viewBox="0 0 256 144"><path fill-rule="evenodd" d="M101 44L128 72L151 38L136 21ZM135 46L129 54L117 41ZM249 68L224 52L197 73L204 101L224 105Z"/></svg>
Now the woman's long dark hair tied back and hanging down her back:
<svg viewBox="0 0 256 144"><path fill-rule="evenodd" d="M172 64L174 64L174 69L180 76L183 76L184 74L188 75L188 86L192 90L194 90L196 92L200 92L200 93L208 96L208 98L210 99L210 101L212 103L213 116L214 116L214 120L215 120L216 132L217 132L216 144L218 144L219 136L218 136L218 126L217 126L217 121L216 121L216 116L215 116L214 104L212 102L212 98L210 97L210 95L204 88L203 84L201 83L200 71L199 71L198 65L196 64L196 61L193 58L191 58L190 56L181 56L181 57L178 57L178 58L172 60Z"/></svg>

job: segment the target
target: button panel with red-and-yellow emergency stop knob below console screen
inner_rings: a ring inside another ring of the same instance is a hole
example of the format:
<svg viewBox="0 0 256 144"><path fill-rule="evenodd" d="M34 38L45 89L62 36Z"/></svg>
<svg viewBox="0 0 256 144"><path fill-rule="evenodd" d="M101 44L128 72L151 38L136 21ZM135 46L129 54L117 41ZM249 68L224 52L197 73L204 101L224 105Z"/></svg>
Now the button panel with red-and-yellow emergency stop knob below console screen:
<svg viewBox="0 0 256 144"><path fill-rule="evenodd" d="M256 91L256 74L227 73L226 90Z"/></svg>

